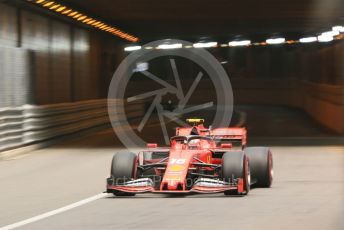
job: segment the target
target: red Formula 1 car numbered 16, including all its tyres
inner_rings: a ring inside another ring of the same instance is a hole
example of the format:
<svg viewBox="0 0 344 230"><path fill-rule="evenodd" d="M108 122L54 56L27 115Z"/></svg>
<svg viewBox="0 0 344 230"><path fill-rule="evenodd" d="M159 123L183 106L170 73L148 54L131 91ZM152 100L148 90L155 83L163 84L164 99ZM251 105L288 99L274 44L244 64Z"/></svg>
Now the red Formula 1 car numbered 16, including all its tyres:
<svg viewBox="0 0 344 230"><path fill-rule="evenodd" d="M246 195L252 185L270 187L272 153L267 147L246 147L245 128L203 126L177 128L170 147L147 144L147 149L113 156L107 192L217 193Z"/></svg>

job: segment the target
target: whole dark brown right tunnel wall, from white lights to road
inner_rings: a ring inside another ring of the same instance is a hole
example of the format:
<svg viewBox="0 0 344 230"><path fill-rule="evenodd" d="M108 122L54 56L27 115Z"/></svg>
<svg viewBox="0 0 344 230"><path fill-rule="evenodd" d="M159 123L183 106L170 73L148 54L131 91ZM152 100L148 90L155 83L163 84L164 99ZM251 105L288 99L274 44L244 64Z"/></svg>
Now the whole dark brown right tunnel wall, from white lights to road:
<svg viewBox="0 0 344 230"><path fill-rule="evenodd" d="M236 103L301 108L344 134L344 42L233 49L215 53L229 60ZM233 60L233 61L230 61Z"/></svg>

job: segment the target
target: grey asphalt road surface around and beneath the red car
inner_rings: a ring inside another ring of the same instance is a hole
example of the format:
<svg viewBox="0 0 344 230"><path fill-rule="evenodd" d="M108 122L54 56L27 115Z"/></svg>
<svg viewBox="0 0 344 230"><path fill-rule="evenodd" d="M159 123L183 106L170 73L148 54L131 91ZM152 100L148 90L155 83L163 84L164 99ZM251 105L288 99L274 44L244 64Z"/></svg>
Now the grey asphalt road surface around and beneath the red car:
<svg viewBox="0 0 344 230"><path fill-rule="evenodd" d="M111 130L0 161L0 227L105 190ZM343 229L344 147L274 146L270 189L223 194L108 195L22 229Z"/></svg>

